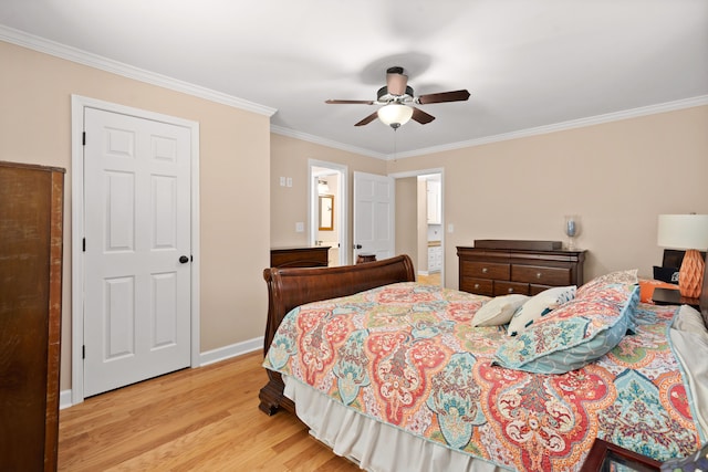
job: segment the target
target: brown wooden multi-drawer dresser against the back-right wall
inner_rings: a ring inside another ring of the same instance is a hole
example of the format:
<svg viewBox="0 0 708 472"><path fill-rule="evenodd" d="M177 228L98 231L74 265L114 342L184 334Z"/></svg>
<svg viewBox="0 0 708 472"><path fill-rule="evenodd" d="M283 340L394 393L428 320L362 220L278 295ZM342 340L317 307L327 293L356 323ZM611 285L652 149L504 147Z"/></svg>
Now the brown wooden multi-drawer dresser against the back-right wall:
<svg viewBox="0 0 708 472"><path fill-rule="evenodd" d="M535 295L552 286L582 285L585 251L457 247L459 287L480 295Z"/></svg>

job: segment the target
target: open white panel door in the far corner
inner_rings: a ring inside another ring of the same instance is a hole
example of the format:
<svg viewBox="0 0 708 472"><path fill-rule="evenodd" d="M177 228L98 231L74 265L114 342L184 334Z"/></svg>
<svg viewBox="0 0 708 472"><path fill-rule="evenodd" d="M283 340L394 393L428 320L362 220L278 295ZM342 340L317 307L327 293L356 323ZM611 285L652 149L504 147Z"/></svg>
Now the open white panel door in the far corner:
<svg viewBox="0 0 708 472"><path fill-rule="evenodd" d="M392 258L395 251L395 180L354 172L354 261L358 254Z"/></svg>

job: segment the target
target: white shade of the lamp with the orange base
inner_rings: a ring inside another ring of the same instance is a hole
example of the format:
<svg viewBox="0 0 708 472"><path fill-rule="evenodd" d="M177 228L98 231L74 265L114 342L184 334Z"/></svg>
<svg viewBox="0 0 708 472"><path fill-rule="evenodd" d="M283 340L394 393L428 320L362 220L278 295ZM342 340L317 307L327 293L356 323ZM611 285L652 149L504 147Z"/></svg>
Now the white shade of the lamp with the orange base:
<svg viewBox="0 0 708 472"><path fill-rule="evenodd" d="M659 214L657 244L671 249L708 249L708 214Z"/></svg>

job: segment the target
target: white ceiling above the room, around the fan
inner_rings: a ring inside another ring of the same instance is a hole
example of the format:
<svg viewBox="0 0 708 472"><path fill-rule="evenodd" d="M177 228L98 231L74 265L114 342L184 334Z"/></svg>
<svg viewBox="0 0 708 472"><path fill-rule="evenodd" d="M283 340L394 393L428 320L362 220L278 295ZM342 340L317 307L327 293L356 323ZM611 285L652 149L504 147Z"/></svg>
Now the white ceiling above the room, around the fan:
<svg viewBox="0 0 708 472"><path fill-rule="evenodd" d="M377 157L708 103L708 0L1 0L0 24ZM397 132L324 103L375 99L394 65L416 95L471 97Z"/></svg>

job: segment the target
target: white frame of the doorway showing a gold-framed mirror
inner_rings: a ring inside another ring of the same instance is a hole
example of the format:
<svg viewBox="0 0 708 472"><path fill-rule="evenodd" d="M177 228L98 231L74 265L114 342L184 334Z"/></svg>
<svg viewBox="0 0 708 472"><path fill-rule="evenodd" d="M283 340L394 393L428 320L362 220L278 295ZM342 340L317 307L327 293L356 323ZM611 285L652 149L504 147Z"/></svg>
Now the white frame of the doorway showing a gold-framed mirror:
<svg viewBox="0 0 708 472"><path fill-rule="evenodd" d="M314 244L317 237L317 188L314 185L314 167L323 167L332 169L339 172L340 182L337 189L337 198L334 200L334 224L339 228L340 235L340 265L346 265L348 263L348 167L342 164L327 162L324 160L308 159L308 241L310 244Z"/></svg>

